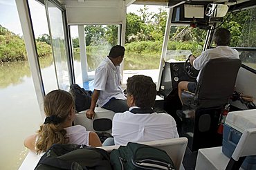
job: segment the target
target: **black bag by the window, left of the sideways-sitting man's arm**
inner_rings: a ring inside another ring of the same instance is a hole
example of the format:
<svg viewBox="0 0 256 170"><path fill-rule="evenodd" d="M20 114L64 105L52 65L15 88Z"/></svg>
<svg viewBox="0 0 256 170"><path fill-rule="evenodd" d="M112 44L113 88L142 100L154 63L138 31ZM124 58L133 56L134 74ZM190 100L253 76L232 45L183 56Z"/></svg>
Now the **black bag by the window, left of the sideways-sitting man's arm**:
<svg viewBox="0 0 256 170"><path fill-rule="evenodd" d="M75 98L75 110L84 111L91 106L91 91L86 91L77 84L71 84L70 93Z"/></svg>

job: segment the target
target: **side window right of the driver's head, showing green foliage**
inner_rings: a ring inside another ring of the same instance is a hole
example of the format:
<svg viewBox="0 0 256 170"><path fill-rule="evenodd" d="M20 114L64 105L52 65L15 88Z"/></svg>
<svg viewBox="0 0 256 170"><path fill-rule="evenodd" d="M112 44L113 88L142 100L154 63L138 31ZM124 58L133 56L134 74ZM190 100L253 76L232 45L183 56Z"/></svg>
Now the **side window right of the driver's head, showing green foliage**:
<svg viewBox="0 0 256 170"><path fill-rule="evenodd" d="M256 73L256 7L228 13L223 23L230 30L230 46L239 52L241 62Z"/></svg>

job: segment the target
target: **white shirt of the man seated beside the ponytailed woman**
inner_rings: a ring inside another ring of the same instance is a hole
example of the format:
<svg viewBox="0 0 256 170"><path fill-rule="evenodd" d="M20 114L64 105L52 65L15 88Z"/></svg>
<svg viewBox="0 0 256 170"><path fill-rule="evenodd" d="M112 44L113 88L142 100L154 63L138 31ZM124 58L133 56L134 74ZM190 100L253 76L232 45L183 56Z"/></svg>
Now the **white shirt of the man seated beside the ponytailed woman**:
<svg viewBox="0 0 256 170"><path fill-rule="evenodd" d="M147 142L179 138L176 122L166 113L116 113L113 117L112 135L115 144Z"/></svg>

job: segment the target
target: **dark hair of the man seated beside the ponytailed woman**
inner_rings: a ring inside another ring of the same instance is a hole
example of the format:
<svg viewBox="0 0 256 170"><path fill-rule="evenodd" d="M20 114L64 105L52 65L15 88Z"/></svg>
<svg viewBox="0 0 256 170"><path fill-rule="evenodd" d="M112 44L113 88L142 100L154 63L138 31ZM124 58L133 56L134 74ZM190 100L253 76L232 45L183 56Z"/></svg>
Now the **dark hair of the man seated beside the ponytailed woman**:
<svg viewBox="0 0 256 170"><path fill-rule="evenodd" d="M127 79L127 93L134 96L136 106L152 108L156 100L156 84L151 77L134 75Z"/></svg>

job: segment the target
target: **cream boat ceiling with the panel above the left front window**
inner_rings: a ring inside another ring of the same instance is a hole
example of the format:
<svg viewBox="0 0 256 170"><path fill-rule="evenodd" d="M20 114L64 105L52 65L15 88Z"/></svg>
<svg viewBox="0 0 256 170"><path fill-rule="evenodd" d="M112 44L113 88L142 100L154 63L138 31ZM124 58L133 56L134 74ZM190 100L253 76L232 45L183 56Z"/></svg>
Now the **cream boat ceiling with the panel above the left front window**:
<svg viewBox="0 0 256 170"><path fill-rule="evenodd" d="M200 3L228 3L235 5L235 0L58 0L66 8L68 25L84 24L121 24L125 22L126 8L131 4L140 5L161 5L175 6L181 3L190 2ZM237 3L243 3L248 0L237 0ZM256 1L256 0L251 0ZM196 3L197 4L197 3Z"/></svg>

